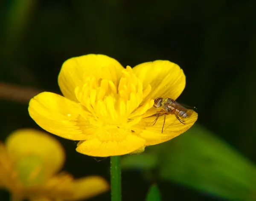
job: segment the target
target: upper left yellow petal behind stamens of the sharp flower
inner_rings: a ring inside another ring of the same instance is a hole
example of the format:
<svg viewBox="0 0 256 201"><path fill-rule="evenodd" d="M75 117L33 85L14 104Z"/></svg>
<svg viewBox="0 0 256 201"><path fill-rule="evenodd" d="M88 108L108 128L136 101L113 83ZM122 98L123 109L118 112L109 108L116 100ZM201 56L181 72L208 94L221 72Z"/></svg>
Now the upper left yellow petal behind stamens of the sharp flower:
<svg viewBox="0 0 256 201"><path fill-rule="evenodd" d="M123 69L118 61L106 55L90 54L66 60L63 63L61 72L58 76L58 84L61 92L66 98L78 102L75 95L75 88L77 86L82 86L84 83L84 75L90 77L90 75L95 72L99 75L102 73L104 74L105 71L103 67L107 66L114 66L116 72L120 73ZM108 75L105 74L105 76ZM116 80L116 78L113 78L112 80Z"/></svg>

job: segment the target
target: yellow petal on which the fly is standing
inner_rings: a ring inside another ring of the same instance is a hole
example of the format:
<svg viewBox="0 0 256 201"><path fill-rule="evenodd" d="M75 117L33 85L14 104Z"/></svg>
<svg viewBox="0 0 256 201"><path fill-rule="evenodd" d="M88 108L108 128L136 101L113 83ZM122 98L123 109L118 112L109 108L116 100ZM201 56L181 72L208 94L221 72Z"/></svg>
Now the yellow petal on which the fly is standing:
<svg viewBox="0 0 256 201"><path fill-rule="evenodd" d="M152 109L153 110L153 109ZM146 140L145 146L159 144L165 141L169 141L172 138L177 137L186 130L188 130L197 120L198 114L193 111L188 111L188 118L183 119L185 124L180 123L175 115L166 115L166 121L163 128L164 117L158 118L157 122L152 126L152 122L156 117L150 117L143 119L147 122L145 129L140 133L140 136ZM163 128L163 133L162 132Z"/></svg>

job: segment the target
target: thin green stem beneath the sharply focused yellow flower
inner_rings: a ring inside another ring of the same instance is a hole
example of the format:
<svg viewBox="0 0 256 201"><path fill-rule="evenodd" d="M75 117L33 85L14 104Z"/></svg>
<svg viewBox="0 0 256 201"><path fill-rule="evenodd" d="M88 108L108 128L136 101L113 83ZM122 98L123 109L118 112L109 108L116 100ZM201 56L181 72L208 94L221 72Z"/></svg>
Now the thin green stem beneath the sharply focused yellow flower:
<svg viewBox="0 0 256 201"><path fill-rule="evenodd" d="M110 157L111 201L121 201L121 167L120 156Z"/></svg>

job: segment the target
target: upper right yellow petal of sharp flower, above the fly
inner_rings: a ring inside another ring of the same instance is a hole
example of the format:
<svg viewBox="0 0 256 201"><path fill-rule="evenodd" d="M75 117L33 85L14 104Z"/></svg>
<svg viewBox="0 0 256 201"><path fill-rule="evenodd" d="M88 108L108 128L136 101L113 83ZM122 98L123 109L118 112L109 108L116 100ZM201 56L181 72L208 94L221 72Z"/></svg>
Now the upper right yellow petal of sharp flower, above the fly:
<svg viewBox="0 0 256 201"><path fill-rule="evenodd" d="M146 98L166 97L176 100L185 88L183 70L167 60L141 63L133 68L133 72L143 83L143 89L150 84L151 92Z"/></svg>

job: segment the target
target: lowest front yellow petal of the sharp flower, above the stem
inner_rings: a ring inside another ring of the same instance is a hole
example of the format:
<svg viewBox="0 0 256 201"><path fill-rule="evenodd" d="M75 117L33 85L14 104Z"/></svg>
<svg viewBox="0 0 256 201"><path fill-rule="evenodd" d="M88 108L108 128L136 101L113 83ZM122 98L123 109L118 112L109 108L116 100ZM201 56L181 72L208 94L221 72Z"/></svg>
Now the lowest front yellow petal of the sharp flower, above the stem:
<svg viewBox="0 0 256 201"><path fill-rule="evenodd" d="M108 135L108 133L105 135ZM126 135L126 138L122 141L100 141L97 138L80 141L76 151L90 156L108 157L131 153L145 144L145 140L136 135L128 132L123 135Z"/></svg>

